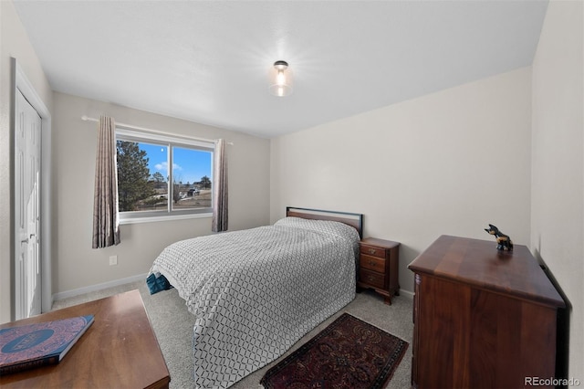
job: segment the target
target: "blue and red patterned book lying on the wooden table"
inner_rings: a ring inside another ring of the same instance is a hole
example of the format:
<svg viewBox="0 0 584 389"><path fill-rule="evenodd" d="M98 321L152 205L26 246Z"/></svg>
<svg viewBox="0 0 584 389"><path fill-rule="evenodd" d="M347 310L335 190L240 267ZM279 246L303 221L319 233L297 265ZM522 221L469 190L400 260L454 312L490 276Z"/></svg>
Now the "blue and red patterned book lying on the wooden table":
<svg viewBox="0 0 584 389"><path fill-rule="evenodd" d="M59 363L93 323L93 315L0 330L0 375Z"/></svg>

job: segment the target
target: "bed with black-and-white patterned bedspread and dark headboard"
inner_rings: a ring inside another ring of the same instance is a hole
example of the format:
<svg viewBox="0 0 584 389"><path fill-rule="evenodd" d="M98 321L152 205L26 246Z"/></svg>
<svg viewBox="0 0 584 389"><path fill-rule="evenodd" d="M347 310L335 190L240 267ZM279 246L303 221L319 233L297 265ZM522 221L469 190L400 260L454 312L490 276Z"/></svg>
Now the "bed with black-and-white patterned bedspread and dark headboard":
<svg viewBox="0 0 584 389"><path fill-rule="evenodd" d="M287 207L273 226L164 248L150 274L195 316L194 384L228 387L355 298L360 214Z"/></svg>

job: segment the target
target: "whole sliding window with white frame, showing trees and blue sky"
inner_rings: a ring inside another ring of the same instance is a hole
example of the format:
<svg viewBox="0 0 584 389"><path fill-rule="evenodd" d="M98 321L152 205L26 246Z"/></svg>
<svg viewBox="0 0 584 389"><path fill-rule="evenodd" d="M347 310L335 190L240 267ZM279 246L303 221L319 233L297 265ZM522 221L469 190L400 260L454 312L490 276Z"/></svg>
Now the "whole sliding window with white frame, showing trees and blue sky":
<svg viewBox="0 0 584 389"><path fill-rule="evenodd" d="M213 142L117 128L116 146L120 222L213 212Z"/></svg>

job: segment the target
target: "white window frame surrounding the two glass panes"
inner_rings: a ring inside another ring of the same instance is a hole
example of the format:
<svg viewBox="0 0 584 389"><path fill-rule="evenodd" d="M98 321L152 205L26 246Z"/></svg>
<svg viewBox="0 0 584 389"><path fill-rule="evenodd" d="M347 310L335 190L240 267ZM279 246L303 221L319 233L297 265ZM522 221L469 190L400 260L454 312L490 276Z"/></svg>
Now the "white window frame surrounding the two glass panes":
<svg viewBox="0 0 584 389"><path fill-rule="evenodd" d="M154 143L154 144L161 144L164 147L168 147L167 152L167 163L168 163L168 207L166 210L156 210L156 211L124 211L119 212L119 220L120 225L126 224L137 224L137 223L151 223L151 222L159 222L159 221L168 221L168 220L180 220L180 219L191 219L191 218L199 218L199 217L212 217L213 216L213 195L211 196L211 206L205 208L195 208L195 209L182 209L182 210L172 210L172 191L174 190L173 187L173 148L174 147L182 147L182 148L189 148L200 150L203 152L211 152L211 172L210 177L213 183L213 163L214 163L214 152L215 152L215 143L213 141L202 141L199 139L193 139L187 136L181 135L173 135L168 133L161 133L161 132L146 132L140 130L134 130L130 128L125 128L120 126L119 124L116 125L115 131L115 142L123 141L123 142L144 142L144 143ZM213 184L212 184L213 190Z"/></svg>

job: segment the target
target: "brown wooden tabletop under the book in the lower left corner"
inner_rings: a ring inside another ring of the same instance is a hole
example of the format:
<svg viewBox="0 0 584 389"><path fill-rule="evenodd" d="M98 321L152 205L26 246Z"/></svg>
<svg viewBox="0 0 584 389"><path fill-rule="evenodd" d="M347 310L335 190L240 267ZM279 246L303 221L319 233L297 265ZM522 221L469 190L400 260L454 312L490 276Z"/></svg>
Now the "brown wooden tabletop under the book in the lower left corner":
<svg viewBox="0 0 584 389"><path fill-rule="evenodd" d="M6 374L2 388L168 388L168 368L140 292L53 310L0 328L94 315L95 322L60 363Z"/></svg>

